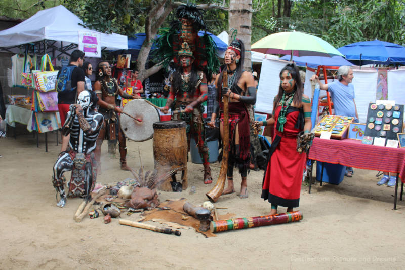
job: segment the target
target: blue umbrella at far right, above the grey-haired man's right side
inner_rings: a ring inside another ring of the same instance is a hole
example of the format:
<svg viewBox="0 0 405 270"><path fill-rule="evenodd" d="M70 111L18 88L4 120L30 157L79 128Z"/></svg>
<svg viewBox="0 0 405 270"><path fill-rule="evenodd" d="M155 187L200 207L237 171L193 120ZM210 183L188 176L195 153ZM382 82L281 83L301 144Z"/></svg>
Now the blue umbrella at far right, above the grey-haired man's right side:
<svg viewBox="0 0 405 270"><path fill-rule="evenodd" d="M405 64L405 47L385 41L362 41L338 49L347 60L359 64Z"/></svg>

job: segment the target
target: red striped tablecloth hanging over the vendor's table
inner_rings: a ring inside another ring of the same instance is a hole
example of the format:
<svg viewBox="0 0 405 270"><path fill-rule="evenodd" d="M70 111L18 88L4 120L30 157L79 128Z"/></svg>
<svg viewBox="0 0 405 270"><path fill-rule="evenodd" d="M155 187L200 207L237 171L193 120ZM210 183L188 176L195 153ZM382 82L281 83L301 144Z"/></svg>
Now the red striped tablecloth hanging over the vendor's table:
<svg viewBox="0 0 405 270"><path fill-rule="evenodd" d="M360 169L399 173L399 178L405 183L405 148L368 145L352 139L315 138L308 158Z"/></svg>

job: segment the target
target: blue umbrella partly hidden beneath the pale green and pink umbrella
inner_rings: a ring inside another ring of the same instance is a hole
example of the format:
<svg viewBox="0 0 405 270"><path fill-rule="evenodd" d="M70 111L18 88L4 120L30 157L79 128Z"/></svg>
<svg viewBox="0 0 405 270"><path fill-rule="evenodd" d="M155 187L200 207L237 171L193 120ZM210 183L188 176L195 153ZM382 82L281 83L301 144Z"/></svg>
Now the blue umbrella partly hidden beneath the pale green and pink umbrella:
<svg viewBox="0 0 405 270"><path fill-rule="evenodd" d="M290 55L280 57L282 60L290 60ZM352 66L353 64L342 56L293 56L293 61L298 66L316 68L318 66Z"/></svg>

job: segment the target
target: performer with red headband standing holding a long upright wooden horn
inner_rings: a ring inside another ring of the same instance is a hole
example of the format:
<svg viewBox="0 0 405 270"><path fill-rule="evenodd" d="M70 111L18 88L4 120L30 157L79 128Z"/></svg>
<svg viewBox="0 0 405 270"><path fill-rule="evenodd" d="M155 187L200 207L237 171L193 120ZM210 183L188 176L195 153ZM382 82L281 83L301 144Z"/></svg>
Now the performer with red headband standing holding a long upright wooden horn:
<svg viewBox="0 0 405 270"><path fill-rule="evenodd" d="M248 197L247 173L251 159L250 153L250 122L246 104L256 103L256 88L252 73L244 71L244 44L234 40L225 51L225 64L228 72L228 88L222 87L223 73L217 75L215 85L217 89L216 106L211 115L209 126L215 127L215 119L219 115L221 120L220 133L223 139L223 103L220 102L220 93L223 98L229 98L229 147L222 149L229 151L228 159L228 187L222 194L235 192L233 186L233 167L238 167L242 176L240 198ZM219 111L221 109L221 111Z"/></svg>

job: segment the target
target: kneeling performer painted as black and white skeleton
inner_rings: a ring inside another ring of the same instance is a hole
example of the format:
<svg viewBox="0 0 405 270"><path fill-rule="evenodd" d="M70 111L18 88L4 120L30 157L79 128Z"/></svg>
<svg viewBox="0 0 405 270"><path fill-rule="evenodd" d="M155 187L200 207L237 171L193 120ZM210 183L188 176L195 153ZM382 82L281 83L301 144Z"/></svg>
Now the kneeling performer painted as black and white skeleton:
<svg viewBox="0 0 405 270"><path fill-rule="evenodd" d="M97 163L93 151L104 121L103 115L94 111L96 104L94 92L84 90L67 113L62 132L64 136L70 133L69 147L59 154L53 168L53 184L61 197L56 204L59 207L66 204L64 172L72 171L68 193L72 197L90 195L96 182Z"/></svg>

